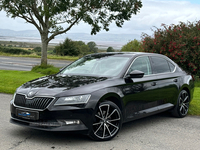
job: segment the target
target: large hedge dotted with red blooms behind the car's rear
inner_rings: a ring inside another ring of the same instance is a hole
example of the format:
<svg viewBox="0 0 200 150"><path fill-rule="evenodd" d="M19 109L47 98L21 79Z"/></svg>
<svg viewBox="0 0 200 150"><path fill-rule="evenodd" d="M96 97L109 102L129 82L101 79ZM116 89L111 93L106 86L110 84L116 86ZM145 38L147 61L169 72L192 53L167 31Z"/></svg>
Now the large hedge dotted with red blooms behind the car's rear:
<svg viewBox="0 0 200 150"><path fill-rule="evenodd" d="M153 37L143 34L142 43L144 51L164 54L186 71L200 75L200 21L162 24Z"/></svg>

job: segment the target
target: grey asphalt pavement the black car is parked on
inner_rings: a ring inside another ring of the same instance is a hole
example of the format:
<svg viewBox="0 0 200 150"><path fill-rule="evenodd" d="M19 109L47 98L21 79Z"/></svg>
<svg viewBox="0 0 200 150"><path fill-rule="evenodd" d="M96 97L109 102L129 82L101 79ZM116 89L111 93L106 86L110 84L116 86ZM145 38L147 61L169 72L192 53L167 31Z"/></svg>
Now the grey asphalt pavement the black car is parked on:
<svg viewBox="0 0 200 150"><path fill-rule="evenodd" d="M174 118L162 113L123 125L111 141L95 142L87 136L45 132L9 123L12 95L0 94L1 150L198 150L200 117Z"/></svg>

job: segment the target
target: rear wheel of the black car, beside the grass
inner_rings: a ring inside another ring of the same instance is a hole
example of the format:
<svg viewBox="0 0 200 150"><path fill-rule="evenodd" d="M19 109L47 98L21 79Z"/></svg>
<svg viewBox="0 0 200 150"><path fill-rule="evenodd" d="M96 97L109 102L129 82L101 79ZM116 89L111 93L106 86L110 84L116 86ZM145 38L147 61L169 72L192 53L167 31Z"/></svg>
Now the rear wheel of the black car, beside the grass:
<svg viewBox="0 0 200 150"><path fill-rule="evenodd" d="M172 111L172 115L178 118L183 118L189 110L190 96L187 91L182 90L179 93L177 104Z"/></svg>

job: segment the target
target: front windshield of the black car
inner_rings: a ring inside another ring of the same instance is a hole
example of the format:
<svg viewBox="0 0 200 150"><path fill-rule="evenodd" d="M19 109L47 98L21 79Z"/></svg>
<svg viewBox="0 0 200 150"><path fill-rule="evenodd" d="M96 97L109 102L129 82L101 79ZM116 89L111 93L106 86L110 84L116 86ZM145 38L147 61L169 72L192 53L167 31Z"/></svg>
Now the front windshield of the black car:
<svg viewBox="0 0 200 150"><path fill-rule="evenodd" d="M117 76L129 57L118 55L89 55L82 57L61 71L66 75Z"/></svg>

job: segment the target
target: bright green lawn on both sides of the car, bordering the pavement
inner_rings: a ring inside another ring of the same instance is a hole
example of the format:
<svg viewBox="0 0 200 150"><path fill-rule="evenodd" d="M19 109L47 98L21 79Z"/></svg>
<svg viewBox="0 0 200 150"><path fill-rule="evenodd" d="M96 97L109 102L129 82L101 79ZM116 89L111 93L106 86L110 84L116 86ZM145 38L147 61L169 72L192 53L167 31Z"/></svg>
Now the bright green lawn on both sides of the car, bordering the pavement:
<svg viewBox="0 0 200 150"><path fill-rule="evenodd" d="M44 76L32 71L0 70L0 93L13 94L23 83ZM200 116L200 81L195 83L194 97L190 103L190 115Z"/></svg>

